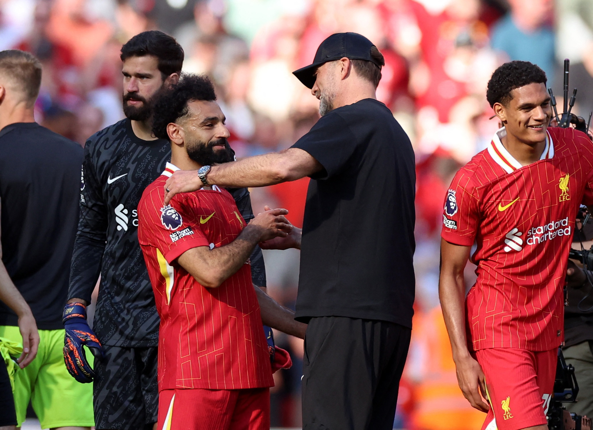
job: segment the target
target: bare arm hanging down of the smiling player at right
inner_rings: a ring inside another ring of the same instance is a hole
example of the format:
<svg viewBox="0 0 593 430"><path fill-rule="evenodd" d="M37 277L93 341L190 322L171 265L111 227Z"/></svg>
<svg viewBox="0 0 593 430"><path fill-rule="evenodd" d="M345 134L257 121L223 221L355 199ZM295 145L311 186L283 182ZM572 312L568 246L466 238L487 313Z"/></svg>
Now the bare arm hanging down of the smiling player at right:
<svg viewBox="0 0 593 430"><path fill-rule="evenodd" d="M457 370L457 381L463 396L471 406L482 412L490 408L486 399L484 372L467 349L466 337L466 284L463 270L470 256L469 246L454 245L441 239L441 276L439 298L449 333L453 361ZM480 396L480 394L482 394Z"/></svg>

